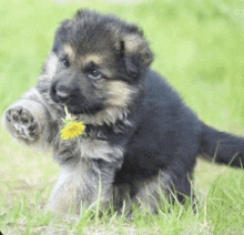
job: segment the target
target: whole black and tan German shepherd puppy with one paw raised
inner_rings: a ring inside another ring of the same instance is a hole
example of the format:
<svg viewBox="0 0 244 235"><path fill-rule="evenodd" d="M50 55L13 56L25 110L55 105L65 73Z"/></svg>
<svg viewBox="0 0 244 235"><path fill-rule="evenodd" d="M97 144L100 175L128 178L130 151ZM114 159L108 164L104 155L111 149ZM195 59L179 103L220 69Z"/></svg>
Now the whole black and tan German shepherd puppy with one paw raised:
<svg viewBox="0 0 244 235"><path fill-rule="evenodd" d="M53 152L61 175L48 207L61 214L98 198L156 212L160 194L192 196L196 156L241 167L244 140L197 119L150 69L142 31L116 17L79 11L58 28L39 82L12 104L3 123L13 137ZM84 135L60 137L64 105Z"/></svg>

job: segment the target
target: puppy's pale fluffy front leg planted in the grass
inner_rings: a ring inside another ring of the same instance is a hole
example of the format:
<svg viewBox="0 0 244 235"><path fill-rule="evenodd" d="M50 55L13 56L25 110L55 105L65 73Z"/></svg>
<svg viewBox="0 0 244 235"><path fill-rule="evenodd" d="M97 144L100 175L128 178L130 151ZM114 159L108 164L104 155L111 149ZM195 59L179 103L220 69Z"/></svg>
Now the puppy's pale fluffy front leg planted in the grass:
<svg viewBox="0 0 244 235"><path fill-rule="evenodd" d="M112 197L113 171L99 167L96 161L68 160L61 166L61 175L50 196L48 210L64 215L69 211L80 214L81 206L93 207L101 202L102 208Z"/></svg>

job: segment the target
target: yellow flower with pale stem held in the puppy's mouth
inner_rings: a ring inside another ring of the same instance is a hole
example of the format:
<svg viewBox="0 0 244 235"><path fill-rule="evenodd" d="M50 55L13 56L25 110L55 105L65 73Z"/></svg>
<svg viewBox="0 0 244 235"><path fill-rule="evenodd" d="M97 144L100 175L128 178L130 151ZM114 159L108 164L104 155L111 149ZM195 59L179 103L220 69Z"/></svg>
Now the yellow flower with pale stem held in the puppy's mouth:
<svg viewBox="0 0 244 235"><path fill-rule="evenodd" d="M63 120L64 126L61 130L61 137L62 140L70 140L78 137L84 133L85 125L81 121L75 121L75 117L72 117L71 114L68 112L67 106L65 110L65 119Z"/></svg>

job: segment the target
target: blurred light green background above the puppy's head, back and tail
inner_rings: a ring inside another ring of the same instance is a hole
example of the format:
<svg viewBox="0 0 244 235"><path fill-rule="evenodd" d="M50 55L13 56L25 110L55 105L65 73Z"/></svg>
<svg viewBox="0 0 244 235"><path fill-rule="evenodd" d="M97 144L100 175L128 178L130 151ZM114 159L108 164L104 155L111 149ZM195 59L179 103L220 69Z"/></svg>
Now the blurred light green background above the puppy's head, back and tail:
<svg viewBox="0 0 244 235"><path fill-rule="evenodd" d="M244 1L114 2L1 1L0 112L37 83L59 22L90 8L140 24L155 53L152 68L207 124L242 134Z"/></svg>

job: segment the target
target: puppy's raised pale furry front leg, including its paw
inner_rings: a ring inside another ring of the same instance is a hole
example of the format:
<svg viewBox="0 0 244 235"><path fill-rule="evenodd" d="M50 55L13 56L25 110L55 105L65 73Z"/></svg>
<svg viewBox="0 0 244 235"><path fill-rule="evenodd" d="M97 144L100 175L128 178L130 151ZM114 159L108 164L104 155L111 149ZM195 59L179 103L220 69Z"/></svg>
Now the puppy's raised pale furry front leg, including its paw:
<svg viewBox="0 0 244 235"><path fill-rule="evenodd" d="M2 122L16 140L42 150L50 145L54 134L50 111L35 88L8 108Z"/></svg>

